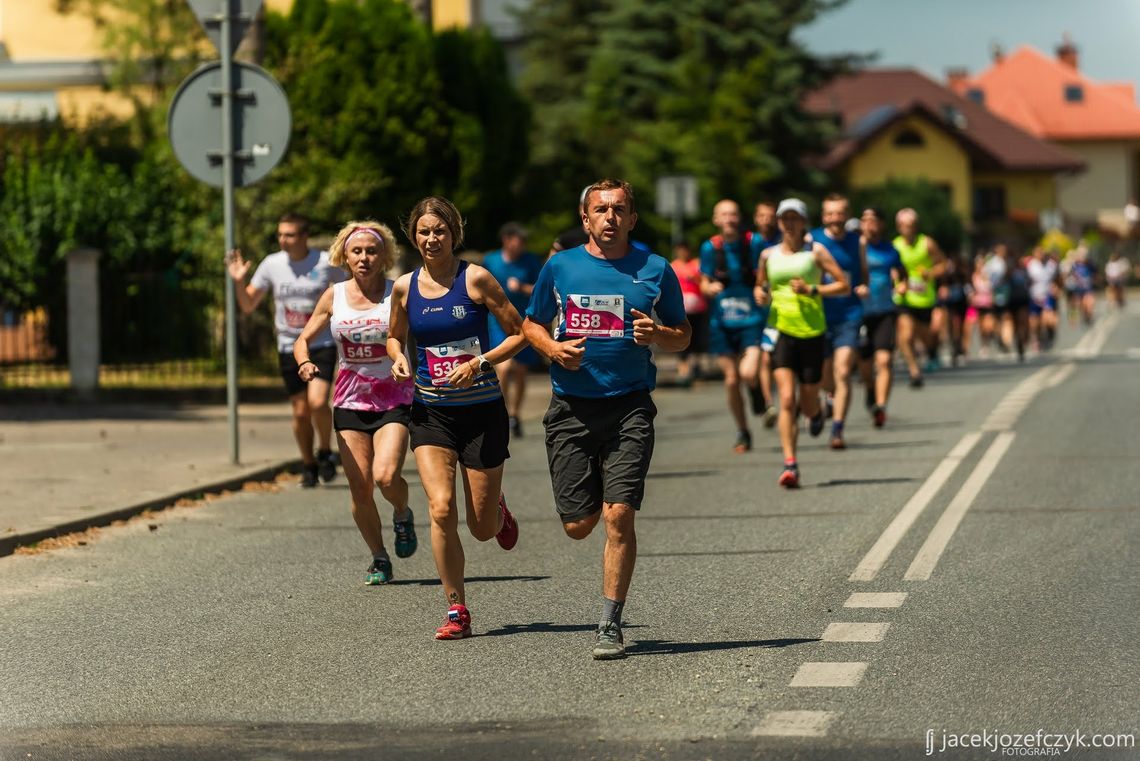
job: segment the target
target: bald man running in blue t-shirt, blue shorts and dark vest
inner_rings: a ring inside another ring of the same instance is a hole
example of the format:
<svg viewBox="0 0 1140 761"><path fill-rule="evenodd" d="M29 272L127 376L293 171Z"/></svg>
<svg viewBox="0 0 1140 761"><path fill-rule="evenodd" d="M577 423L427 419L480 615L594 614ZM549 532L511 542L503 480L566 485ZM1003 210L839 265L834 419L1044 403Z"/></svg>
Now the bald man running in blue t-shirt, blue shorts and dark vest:
<svg viewBox="0 0 1140 761"><path fill-rule="evenodd" d="M740 206L719 201L712 207L712 224L720 230L701 244L701 289L711 300L709 353L717 358L724 374L728 414L736 425L733 451L752 448L740 385L751 401L752 415L763 415L760 391L760 313L752 297L758 259L752 254L752 234L740 231Z"/></svg>

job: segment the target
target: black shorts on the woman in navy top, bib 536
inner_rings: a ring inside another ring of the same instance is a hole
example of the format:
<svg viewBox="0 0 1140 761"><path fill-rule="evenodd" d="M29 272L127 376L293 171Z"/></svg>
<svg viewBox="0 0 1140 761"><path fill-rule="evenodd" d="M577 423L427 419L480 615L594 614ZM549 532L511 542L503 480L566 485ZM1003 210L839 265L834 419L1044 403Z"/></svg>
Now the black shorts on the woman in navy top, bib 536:
<svg viewBox="0 0 1140 761"><path fill-rule="evenodd" d="M511 426L503 398L479 404L412 403L412 449L442 447L459 456L459 465L486 470L511 457Z"/></svg>

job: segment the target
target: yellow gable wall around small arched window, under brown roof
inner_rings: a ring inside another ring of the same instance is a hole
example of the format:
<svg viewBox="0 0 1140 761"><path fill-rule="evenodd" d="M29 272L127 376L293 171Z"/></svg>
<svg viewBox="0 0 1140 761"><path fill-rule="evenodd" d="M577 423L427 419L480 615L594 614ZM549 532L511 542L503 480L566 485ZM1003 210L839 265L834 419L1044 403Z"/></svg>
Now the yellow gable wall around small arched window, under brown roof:
<svg viewBox="0 0 1140 761"><path fill-rule="evenodd" d="M922 136L921 146L896 146L895 138L905 130ZM852 187L880 185L890 179L922 178L950 187L951 206L969 224L974 218L970 159L962 147L925 118L910 116L868 144L847 164Z"/></svg>

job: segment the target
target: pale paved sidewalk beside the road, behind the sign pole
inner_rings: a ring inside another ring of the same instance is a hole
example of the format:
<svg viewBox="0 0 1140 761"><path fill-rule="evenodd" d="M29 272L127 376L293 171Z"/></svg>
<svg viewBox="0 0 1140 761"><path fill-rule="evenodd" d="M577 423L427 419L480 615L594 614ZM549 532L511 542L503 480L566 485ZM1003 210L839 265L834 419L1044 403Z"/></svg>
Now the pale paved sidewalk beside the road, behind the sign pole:
<svg viewBox="0 0 1140 761"><path fill-rule="evenodd" d="M522 418L532 432L548 403L547 377L531 376ZM290 420L286 401L241 404L242 463L231 465L225 406L0 406L0 557L295 468Z"/></svg>

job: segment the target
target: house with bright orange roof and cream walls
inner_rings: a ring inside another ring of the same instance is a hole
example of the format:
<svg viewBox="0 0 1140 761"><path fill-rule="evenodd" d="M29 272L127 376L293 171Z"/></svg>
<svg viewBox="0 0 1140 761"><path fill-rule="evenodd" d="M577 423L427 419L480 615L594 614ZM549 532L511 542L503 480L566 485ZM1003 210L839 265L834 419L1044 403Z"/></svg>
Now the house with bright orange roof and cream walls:
<svg viewBox="0 0 1140 761"><path fill-rule="evenodd" d="M1058 182L1058 204L1075 223L1122 218L1140 195L1140 106L1130 82L1097 82L1081 73L1077 48L1066 39L1050 57L1021 47L995 50L991 66L948 85L1007 122L1062 148L1086 171Z"/></svg>

